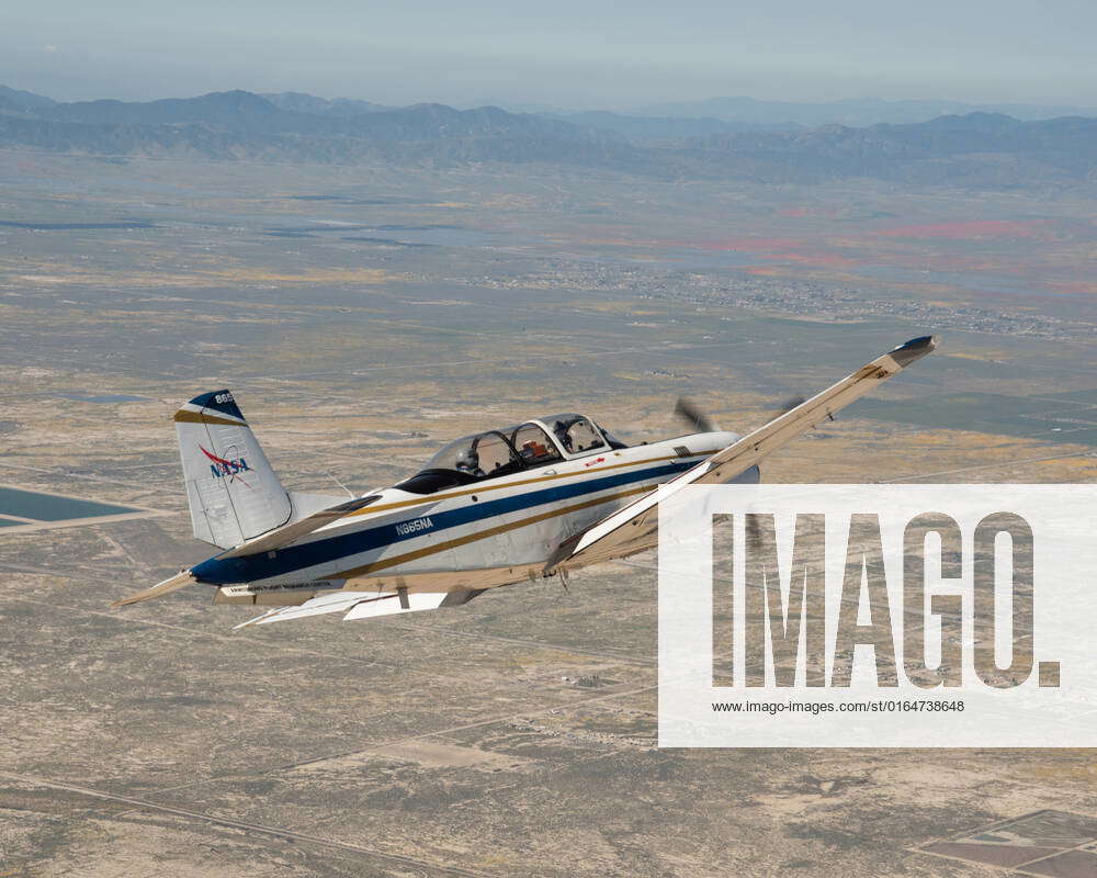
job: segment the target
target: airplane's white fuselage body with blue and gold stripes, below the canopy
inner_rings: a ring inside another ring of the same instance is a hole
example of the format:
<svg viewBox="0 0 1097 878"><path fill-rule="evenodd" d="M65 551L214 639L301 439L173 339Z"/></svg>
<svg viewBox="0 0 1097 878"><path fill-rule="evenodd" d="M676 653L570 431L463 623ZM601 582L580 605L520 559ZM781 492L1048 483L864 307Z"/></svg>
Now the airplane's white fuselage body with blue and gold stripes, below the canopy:
<svg viewBox="0 0 1097 878"><path fill-rule="evenodd" d="M398 487L292 545L194 567L220 603L293 605L330 589L456 592L535 578L568 537L732 444L713 431L588 451L511 475ZM757 470L742 481L757 481Z"/></svg>

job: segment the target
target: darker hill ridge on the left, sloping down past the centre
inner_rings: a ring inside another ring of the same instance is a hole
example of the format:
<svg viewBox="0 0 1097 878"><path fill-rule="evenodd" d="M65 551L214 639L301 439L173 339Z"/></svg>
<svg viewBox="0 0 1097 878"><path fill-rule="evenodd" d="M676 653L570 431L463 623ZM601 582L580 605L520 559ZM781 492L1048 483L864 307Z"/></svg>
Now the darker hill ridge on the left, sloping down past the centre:
<svg viewBox="0 0 1097 878"><path fill-rule="evenodd" d="M299 99L281 102L310 105ZM247 91L55 103L30 114L0 114L0 147L337 164L552 161L652 171L648 158L623 137L563 120L493 106L416 104L352 115L320 109L283 109Z"/></svg>

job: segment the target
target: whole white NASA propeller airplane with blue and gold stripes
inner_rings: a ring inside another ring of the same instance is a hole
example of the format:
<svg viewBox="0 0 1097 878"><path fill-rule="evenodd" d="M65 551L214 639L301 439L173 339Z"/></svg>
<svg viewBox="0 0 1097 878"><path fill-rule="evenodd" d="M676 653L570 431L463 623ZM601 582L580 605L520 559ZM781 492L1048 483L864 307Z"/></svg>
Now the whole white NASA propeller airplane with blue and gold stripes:
<svg viewBox="0 0 1097 878"><path fill-rule="evenodd" d="M931 352L912 339L746 436L679 404L697 430L627 446L578 414L466 436L392 487L350 500L286 491L233 394L176 415L194 537L223 550L120 607L201 584L268 608L250 624L344 620L468 603L657 544L658 486L757 483L759 462Z"/></svg>

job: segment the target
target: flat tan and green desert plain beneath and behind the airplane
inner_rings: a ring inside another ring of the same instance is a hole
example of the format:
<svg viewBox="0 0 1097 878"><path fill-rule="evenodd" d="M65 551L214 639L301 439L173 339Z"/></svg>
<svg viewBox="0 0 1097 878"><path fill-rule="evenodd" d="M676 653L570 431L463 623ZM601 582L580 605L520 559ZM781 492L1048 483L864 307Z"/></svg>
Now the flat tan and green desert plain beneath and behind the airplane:
<svg viewBox="0 0 1097 878"><path fill-rule="evenodd" d="M0 485L126 510L0 527L0 876L999 876L948 840L1038 811L1095 874L1092 751L658 750L653 554L370 622L109 609L210 554L170 417L220 387L346 497L548 412L745 431L937 333L762 477L1090 482L1083 193L0 151Z"/></svg>

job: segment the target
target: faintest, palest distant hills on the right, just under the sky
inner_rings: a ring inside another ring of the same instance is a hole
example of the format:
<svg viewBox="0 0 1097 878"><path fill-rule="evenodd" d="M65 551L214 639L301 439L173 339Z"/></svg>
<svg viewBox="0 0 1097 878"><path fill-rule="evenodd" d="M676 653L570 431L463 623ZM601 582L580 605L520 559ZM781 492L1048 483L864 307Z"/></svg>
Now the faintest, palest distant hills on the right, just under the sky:
<svg viewBox="0 0 1097 878"><path fill-rule="evenodd" d="M756 98L709 98L703 101L651 104L633 110L631 115L675 116L679 119L706 116L719 119L722 122L750 122L769 125L795 123L810 127L834 124L866 127L881 123L928 122L938 116L966 115L969 113L1003 113L1021 121L1036 121L1059 116L1097 115L1097 108L1087 110L1070 104L884 101L874 98L852 98L818 103L760 101Z"/></svg>

